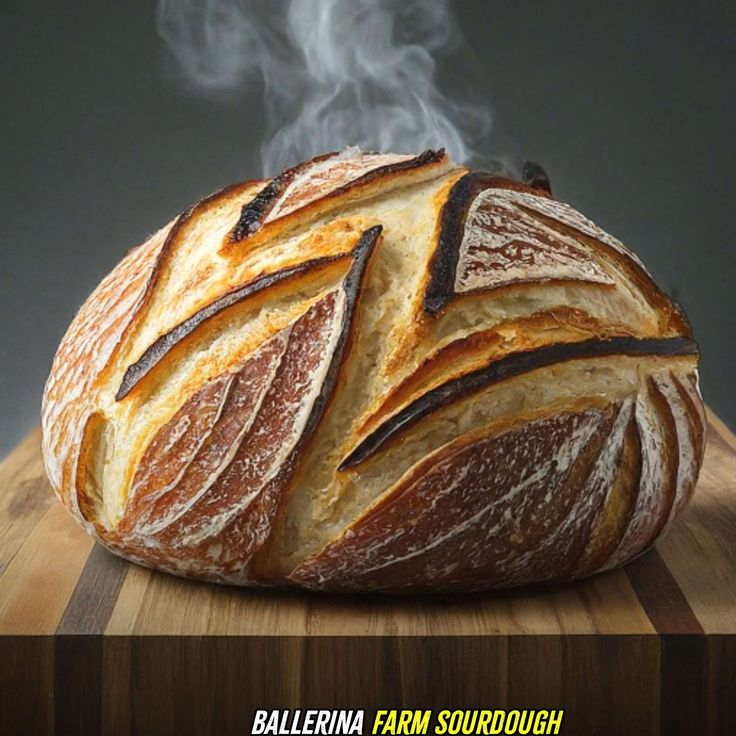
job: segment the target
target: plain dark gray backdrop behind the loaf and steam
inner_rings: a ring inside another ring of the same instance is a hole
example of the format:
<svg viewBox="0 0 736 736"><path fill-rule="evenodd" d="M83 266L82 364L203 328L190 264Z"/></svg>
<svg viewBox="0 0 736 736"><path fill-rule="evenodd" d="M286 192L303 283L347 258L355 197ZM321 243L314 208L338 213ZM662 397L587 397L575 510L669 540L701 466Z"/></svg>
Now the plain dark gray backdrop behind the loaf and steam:
<svg viewBox="0 0 736 736"><path fill-rule="evenodd" d="M458 1L492 155L637 250L686 308L707 401L736 426L736 13L731 3ZM261 116L162 73L146 2L0 9L0 455L38 421L75 309L132 245L259 170ZM466 63L467 62L467 63ZM458 66L443 60L453 84ZM467 83L467 79L465 80Z"/></svg>

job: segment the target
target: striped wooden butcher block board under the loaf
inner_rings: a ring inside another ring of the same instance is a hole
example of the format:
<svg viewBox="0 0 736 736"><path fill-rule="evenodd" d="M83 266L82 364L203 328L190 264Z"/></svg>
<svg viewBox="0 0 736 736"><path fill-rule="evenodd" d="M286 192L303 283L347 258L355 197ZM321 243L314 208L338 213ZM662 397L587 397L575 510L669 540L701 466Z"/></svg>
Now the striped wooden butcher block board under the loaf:
<svg viewBox="0 0 736 736"><path fill-rule="evenodd" d="M625 569L421 598L124 562L56 502L35 431L0 465L0 734L247 734L276 707L564 708L565 734L734 734L736 438L709 420L692 503Z"/></svg>

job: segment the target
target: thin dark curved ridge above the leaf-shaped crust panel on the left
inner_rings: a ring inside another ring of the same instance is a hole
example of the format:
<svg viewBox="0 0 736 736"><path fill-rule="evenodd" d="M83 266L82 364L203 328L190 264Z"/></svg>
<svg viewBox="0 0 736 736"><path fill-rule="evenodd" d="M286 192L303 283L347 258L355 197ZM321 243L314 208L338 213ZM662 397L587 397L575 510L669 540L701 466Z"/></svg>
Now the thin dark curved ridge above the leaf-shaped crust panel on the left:
<svg viewBox="0 0 736 736"><path fill-rule="evenodd" d="M145 375L150 373L150 371L161 362L164 356L166 356L177 343L190 335L203 322L206 322L217 314L220 314L228 307L231 307L238 302L242 302L254 294L262 292L277 284L281 284L288 279L298 277L312 269L320 268L345 258L346 254L323 256L305 261L297 266L284 268L281 271L276 271L275 273L265 274L264 276L260 276L259 278L251 281L249 284L238 289L234 289L224 296L221 296L219 299L211 302L188 319L180 322L176 327L169 330L169 332L161 335L161 337L146 349L143 355L141 355L135 363L128 366L125 371L125 375L123 376L123 380L120 383L120 388L118 388L118 391L115 394L115 400L120 401L121 399L124 399L136 384Z"/></svg>

